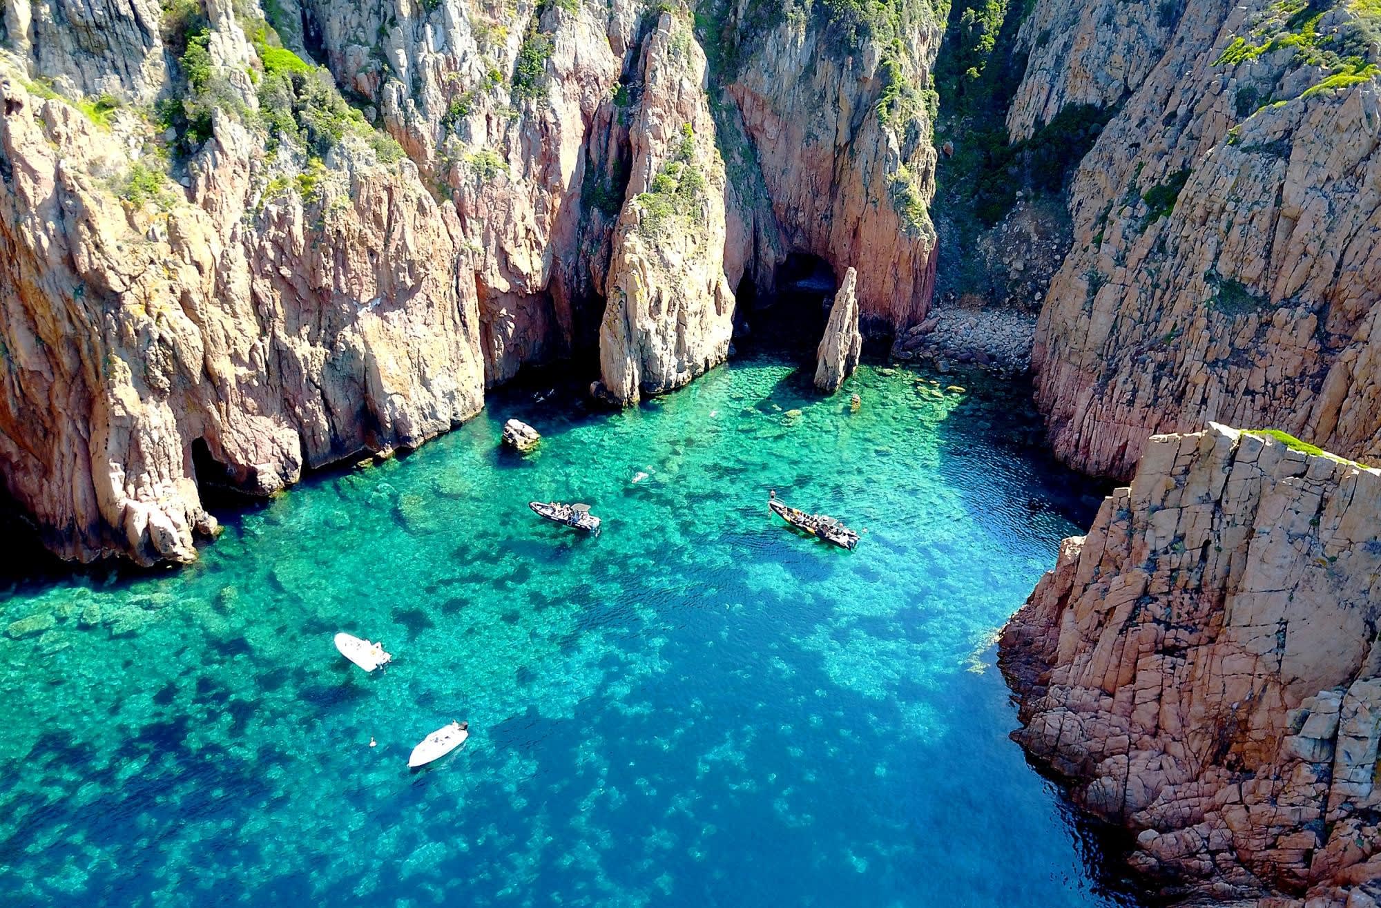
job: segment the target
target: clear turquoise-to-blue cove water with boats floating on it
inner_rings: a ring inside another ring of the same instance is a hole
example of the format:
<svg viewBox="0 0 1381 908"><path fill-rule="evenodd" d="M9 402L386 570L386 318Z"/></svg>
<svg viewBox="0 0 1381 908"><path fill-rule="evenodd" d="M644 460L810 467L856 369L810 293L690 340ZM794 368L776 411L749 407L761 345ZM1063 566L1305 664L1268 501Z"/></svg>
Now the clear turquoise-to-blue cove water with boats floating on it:
<svg viewBox="0 0 1381 908"><path fill-rule="evenodd" d="M52 626L0 635L0 902L1124 904L992 667L1076 531L1068 480L1004 443L1007 402L807 381L750 359L621 414L500 392L228 515L189 569L18 584L0 625ZM534 454L497 450L510 415ZM452 718L465 747L409 771Z"/></svg>

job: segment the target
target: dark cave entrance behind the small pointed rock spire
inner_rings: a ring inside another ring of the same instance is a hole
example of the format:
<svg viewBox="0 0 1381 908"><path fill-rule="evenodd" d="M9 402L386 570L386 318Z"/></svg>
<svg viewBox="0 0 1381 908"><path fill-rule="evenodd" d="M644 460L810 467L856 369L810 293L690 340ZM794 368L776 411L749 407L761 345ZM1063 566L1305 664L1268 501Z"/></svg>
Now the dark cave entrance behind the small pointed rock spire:
<svg viewBox="0 0 1381 908"><path fill-rule="evenodd" d="M791 253L772 275L766 291L749 277L739 284L733 339L739 346L813 352L824 334L838 279L830 264L809 253Z"/></svg>

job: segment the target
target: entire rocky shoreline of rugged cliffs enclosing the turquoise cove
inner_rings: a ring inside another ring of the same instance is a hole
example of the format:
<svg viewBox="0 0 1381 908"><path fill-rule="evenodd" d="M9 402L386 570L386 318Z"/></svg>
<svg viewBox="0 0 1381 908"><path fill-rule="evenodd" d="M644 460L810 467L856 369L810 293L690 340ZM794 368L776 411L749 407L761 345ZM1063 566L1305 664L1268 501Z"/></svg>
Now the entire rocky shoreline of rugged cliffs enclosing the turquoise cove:
<svg viewBox="0 0 1381 908"><path fill-rule="evenodd" d="M1135 471L1004 633L1022 745L1171 894L1374 908L1381 8L942 6L7 3L6 500L192 562L213 488L634 404L829 273L820 388L891 338Z"/></svg>

